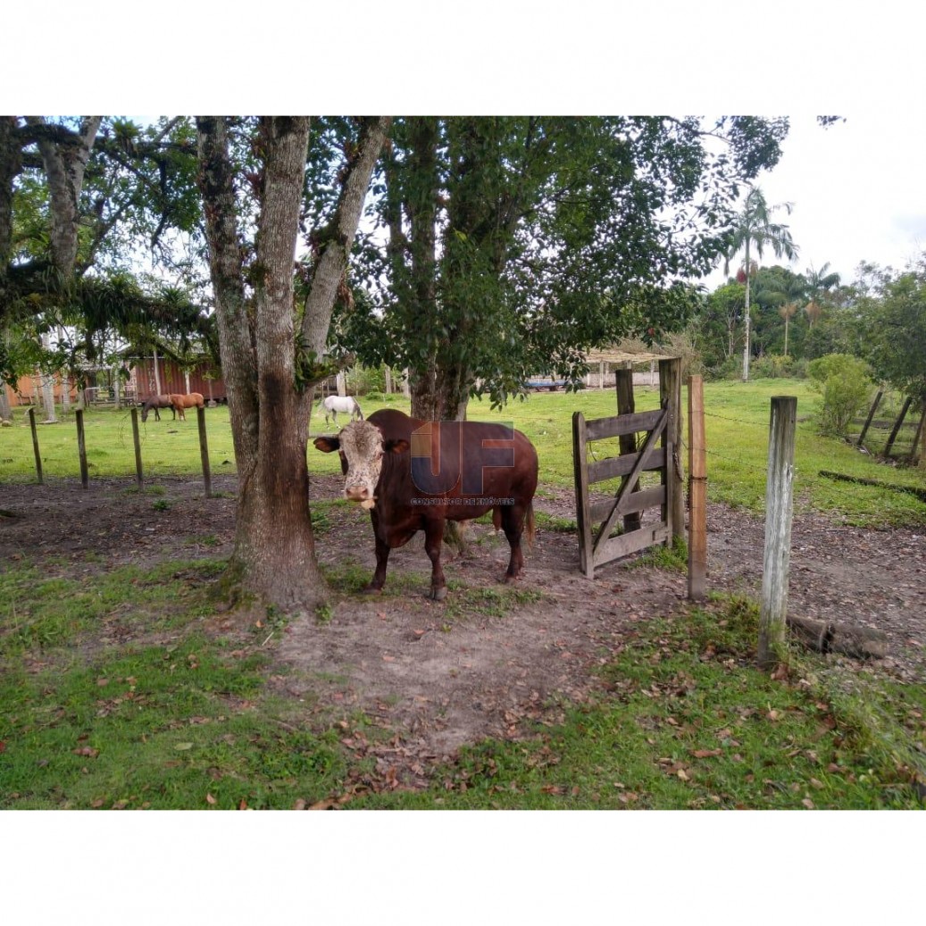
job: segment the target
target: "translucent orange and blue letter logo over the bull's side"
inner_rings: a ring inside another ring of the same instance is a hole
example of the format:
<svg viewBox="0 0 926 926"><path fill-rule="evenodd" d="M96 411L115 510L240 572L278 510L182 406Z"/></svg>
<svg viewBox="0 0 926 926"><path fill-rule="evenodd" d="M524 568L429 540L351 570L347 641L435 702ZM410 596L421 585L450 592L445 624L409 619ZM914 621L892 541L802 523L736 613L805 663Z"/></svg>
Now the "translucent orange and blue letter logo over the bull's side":
<svg viewBox="0 0 926 926"><path fill-rule="evenodd" d="M429 421L411 435L411 478L421 494L484 495L491 490L492 469L515 465L515 430L511 424L480 425L470 432L466 421Z"/></svg>

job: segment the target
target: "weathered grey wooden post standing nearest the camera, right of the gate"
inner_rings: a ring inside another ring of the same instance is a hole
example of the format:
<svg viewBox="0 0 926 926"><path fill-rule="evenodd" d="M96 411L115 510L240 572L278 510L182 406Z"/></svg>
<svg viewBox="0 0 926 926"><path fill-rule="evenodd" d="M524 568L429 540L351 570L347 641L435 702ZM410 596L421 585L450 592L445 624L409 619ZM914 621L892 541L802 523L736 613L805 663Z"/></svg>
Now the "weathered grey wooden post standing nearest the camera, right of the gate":
<svg viewBox="0 0 926 926"><path fill-rule="evenodd" d="M762 607L758 625L758 664L772 668L784 651L788 614L788 568L791 563L791 514L795 480L797 398L771 400L769 472L765 493L765 556L762 561Z"/></svg>

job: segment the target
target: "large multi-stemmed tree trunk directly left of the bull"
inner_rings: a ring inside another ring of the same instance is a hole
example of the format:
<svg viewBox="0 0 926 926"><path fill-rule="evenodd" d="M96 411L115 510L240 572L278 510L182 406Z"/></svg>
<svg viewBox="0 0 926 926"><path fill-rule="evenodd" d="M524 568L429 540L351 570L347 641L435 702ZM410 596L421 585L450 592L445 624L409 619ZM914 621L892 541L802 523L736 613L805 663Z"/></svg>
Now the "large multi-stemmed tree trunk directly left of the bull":
<svg viewBox="0 0 926 926"><path fill-rule="evenodd" d="M263 118L260 216L253 307L235 219L234 173L223 119L196 119L200 188L216 293L222 371L238 464L232 569L244 590L286 611L319 605L325 587L308 510L306 444L311 390L295 382L294 254L309 119ZM369 176L388 120L370 119L344 181L328 245L307 299L303 337L321 356Z"/></svg>

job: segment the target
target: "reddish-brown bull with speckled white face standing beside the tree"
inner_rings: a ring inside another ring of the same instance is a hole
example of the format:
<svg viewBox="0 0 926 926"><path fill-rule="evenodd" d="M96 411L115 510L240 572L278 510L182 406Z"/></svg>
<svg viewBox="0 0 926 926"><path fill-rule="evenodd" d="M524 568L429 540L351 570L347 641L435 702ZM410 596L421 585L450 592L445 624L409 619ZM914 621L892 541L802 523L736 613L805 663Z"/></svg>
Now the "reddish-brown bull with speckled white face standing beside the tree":
<svg viewBox="0 0 926 926"><path fill-rule="evenodd" d="M528 540L533 537L537 488L537 452L521 432L481 421L419 421L384 408L314 443L323 453L340 453L344 497L369 509L376 571L366 591L382 591L389 551L424 531L432 564L428 597L441 601L447 594L441 569L445 522L489 510L511 547L505 581L518 578L525 527Z"/></svg>

